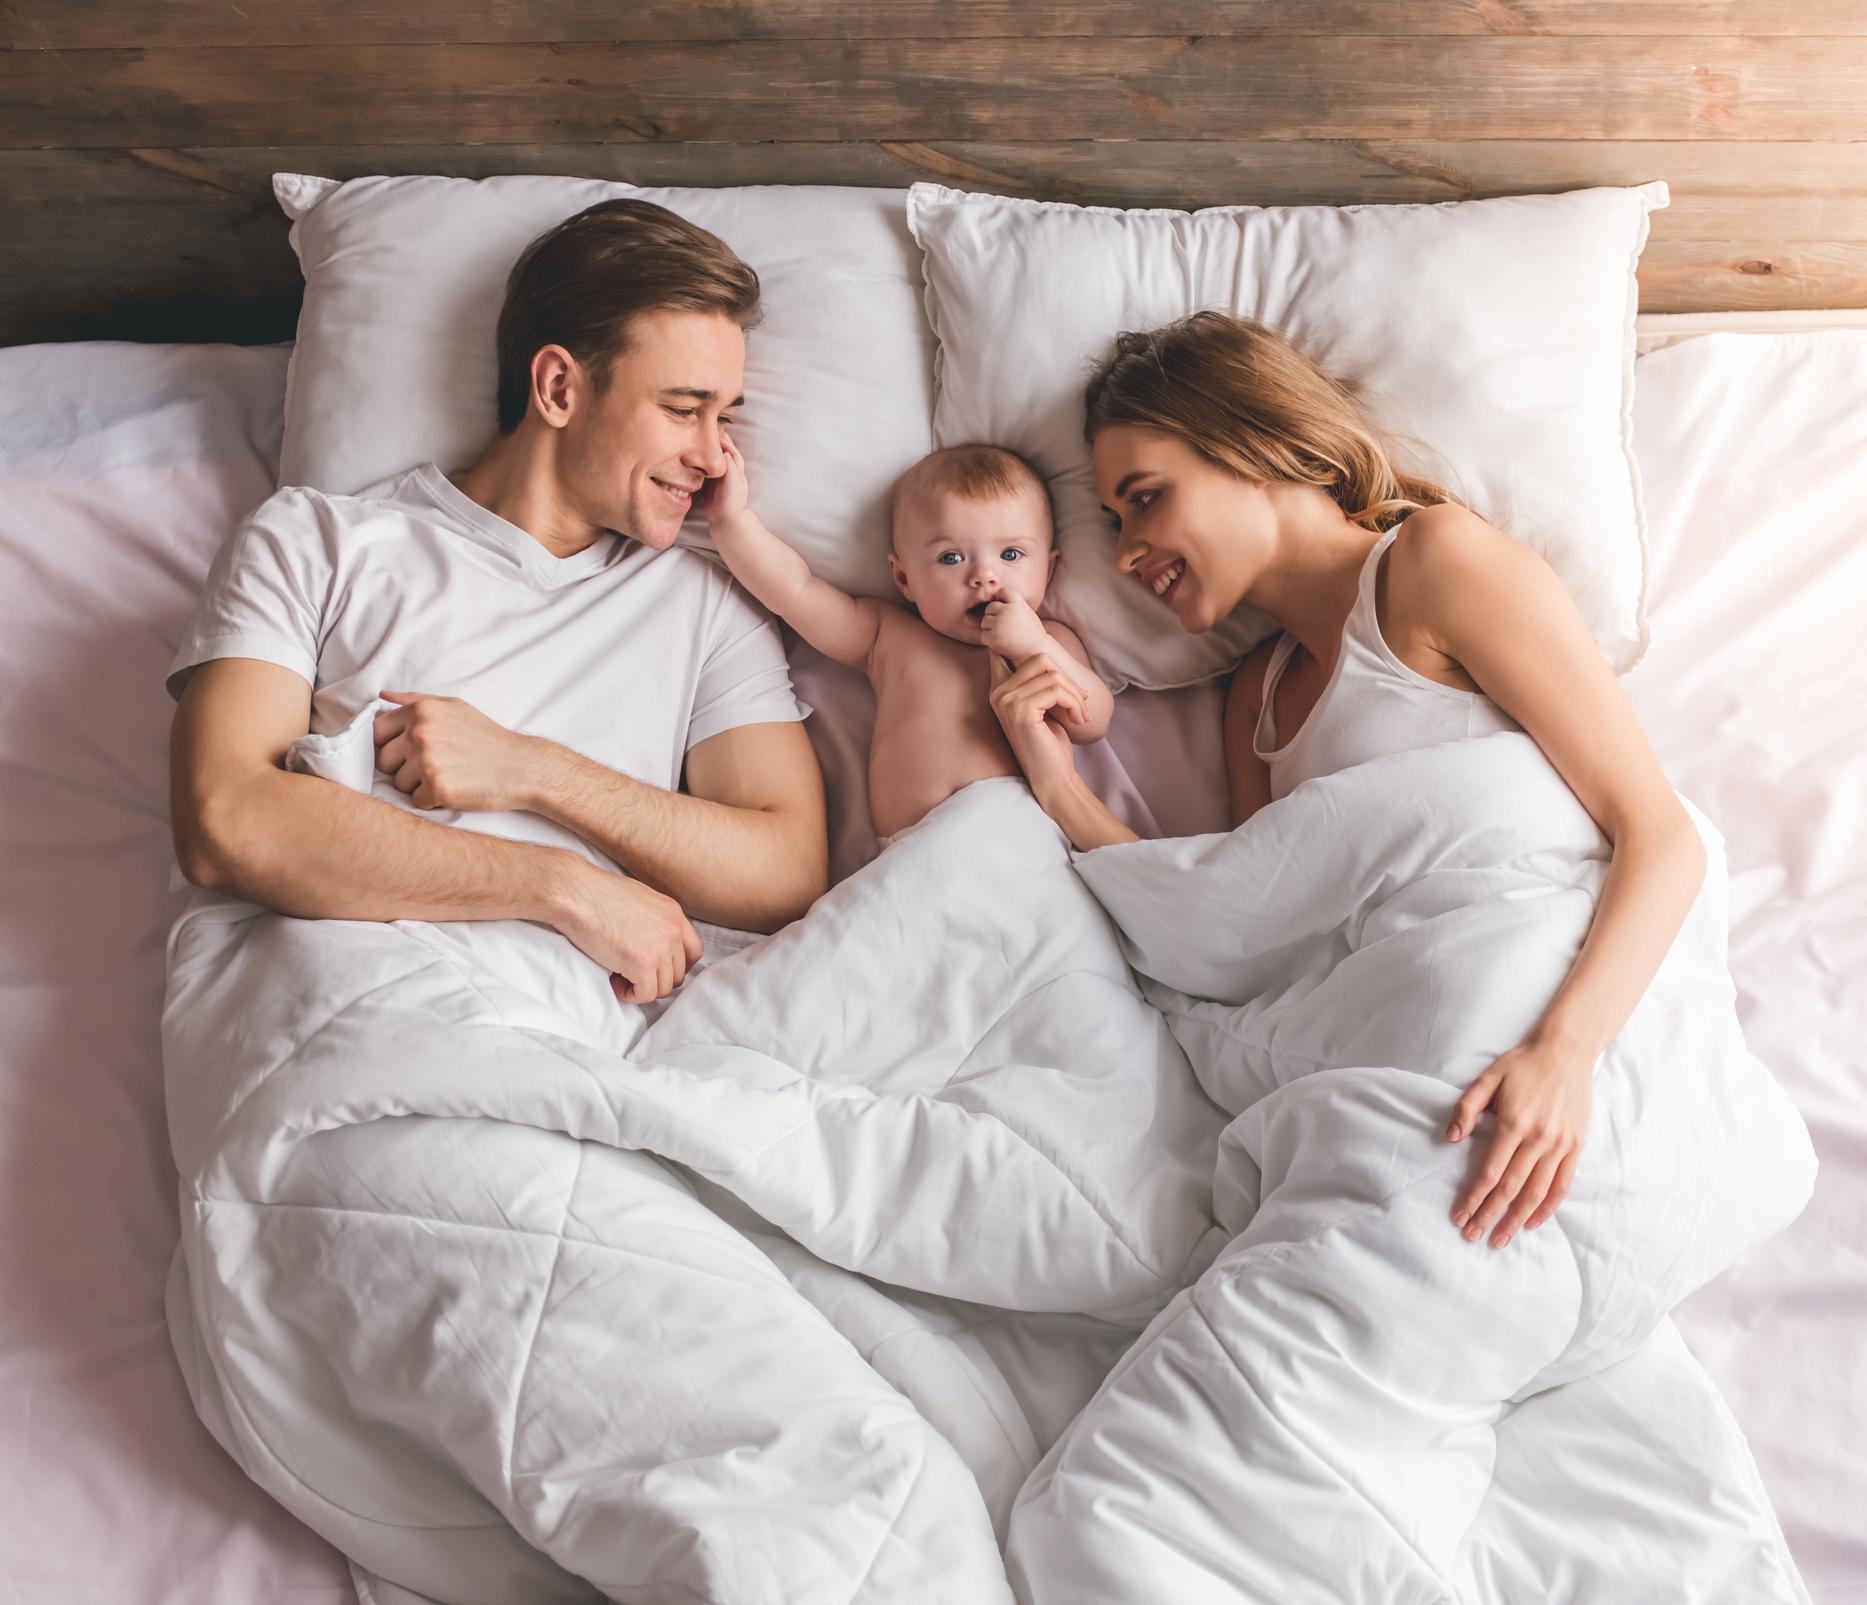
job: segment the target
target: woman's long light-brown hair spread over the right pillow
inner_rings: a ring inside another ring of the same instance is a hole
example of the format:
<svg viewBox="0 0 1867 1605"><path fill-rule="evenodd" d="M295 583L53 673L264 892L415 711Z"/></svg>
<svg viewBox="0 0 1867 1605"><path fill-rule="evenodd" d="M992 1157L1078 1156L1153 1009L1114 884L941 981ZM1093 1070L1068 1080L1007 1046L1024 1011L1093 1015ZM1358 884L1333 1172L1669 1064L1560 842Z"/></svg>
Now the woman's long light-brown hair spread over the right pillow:
<svg viewBox="0 0 1867 1605"><path fill-rule="evenodd" d="M1111 424L1159 429L1234 474L1316 485L1370 530L1456 500L1397 468L1350 386L1249 317L1195 312L1148 334L1116 336L1085 401L1090 444Z"/></svg>

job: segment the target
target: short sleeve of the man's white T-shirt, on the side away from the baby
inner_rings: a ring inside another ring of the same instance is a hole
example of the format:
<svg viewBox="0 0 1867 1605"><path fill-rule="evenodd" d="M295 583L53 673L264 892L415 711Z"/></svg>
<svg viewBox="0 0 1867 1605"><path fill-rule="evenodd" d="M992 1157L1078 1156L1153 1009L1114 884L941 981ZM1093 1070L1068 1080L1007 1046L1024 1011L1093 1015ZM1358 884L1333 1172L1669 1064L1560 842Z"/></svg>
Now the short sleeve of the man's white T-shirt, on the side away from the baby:
<svg viewBox="0 0 1867 1605"><path fill-rule="evenodd" d="M316 687L330 582L317 500L301 489L271 496L215 554L170 664L168 694L179 700L190 674L217 657L276 663Z"/></svg>

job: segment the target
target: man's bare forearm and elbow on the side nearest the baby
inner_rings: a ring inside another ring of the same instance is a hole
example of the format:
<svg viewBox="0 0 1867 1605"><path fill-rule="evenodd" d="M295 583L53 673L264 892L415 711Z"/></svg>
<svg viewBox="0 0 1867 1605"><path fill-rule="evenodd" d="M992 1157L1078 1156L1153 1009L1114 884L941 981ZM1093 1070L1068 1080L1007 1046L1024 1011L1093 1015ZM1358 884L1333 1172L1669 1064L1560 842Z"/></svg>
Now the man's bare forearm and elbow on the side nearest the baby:
<svg viewBox="0 0 1867 1605"><path fill-rule="evenodd" d="M526 808L680 901L696 920L775 931L823 892L821 812L734 808L646 786L540 741Z"/></svg>

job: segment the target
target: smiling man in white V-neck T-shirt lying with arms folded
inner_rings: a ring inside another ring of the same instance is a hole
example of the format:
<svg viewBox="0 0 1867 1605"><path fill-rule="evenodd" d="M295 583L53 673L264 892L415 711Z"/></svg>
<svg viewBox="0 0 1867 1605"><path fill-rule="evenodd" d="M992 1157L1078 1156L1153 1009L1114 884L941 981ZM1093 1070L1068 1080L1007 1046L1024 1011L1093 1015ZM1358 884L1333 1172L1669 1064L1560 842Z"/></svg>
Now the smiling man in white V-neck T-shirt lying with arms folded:
<svg viewBox="0 0 1867 1605"><path fill-rule="evenodd" d="M306 918L538 920L627 1002L698 959L687 914L801 914L825 885L823 795L777 633L668 551L724 468L756 312L756 274L713 235L592 207L513 269L500 433L457 483L429 467L267 502L170 679L183 873ZM375 724L396 793L506 819L439 829L286 771L297 737L377 694L398 704Z"/></svg>

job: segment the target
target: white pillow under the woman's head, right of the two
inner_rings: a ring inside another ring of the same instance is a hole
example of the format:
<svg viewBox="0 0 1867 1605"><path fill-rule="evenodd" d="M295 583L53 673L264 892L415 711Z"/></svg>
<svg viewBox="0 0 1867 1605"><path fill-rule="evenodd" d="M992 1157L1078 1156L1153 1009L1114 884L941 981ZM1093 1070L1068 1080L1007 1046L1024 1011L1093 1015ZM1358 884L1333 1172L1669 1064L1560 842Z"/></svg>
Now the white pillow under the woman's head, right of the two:
<svg viewBox="0 0 1867 1605"><path fill-rule="evenodd" d="M1634 267L1665 185L1447 205L1111 211L915 185L939 336L937 444L995 440L1049 480L1051 607L1116 687L1230 668L1270 623L1210 635L1111 567L1083 384L1120 330L1200 308L1275 325L1359 381L1400 455L1548 558L1617 672L1647 649L1634 467Z"/></svg>

